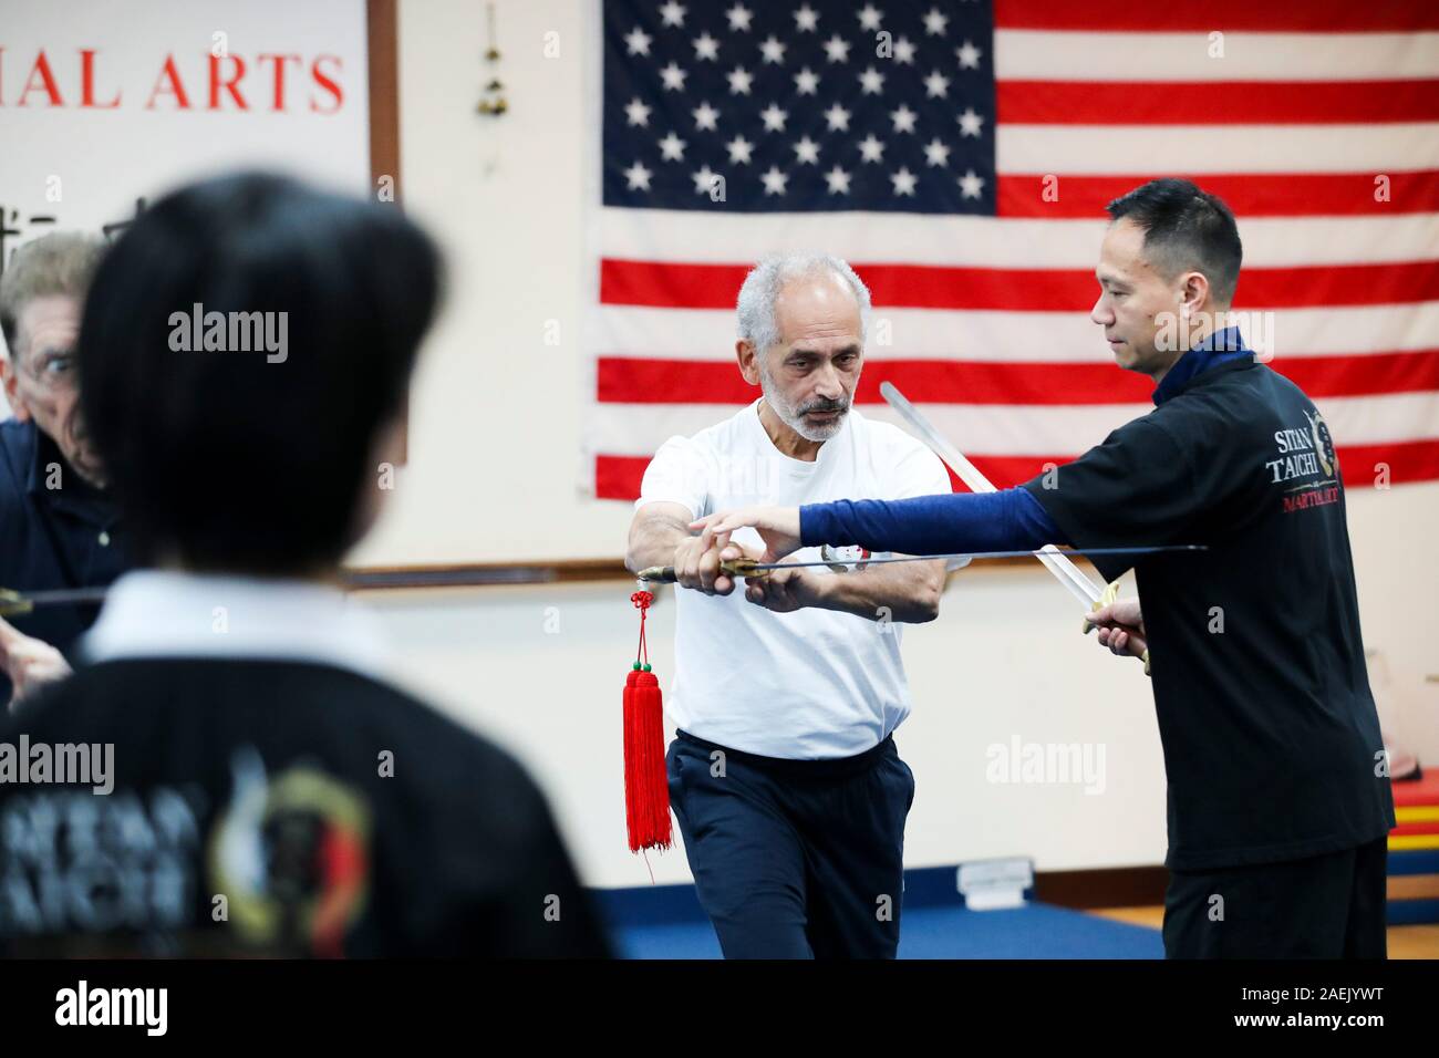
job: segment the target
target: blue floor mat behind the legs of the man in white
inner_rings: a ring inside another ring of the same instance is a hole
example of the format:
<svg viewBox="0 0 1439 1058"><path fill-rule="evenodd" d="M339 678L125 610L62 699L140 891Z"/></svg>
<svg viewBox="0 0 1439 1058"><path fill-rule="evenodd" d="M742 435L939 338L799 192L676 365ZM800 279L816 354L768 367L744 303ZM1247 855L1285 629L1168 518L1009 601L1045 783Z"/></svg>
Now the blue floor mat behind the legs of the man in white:
<svg viewBox="0 0 1439 1058"><path fill-rule="evenodd" d="M708 921L617 926L625 959L718 959ZM961 905L905 908L901 959L1163 959L1158 930L1115 923L1049 904L1012 911Z"/></svg>

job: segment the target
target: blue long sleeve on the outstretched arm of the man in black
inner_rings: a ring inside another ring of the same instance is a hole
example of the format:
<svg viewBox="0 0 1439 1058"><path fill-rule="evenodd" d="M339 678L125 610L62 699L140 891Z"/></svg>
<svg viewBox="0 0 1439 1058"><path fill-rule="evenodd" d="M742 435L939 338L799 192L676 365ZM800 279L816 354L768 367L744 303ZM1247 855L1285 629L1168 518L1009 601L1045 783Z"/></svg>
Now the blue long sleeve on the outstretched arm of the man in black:
<svg viewBox="0 0 1439 1058"><path fill-rule="evenodd" d="M800 540L804 547L858 546L901 554L1033 551L1069 543L1023 488L806 504Z"/></svg>

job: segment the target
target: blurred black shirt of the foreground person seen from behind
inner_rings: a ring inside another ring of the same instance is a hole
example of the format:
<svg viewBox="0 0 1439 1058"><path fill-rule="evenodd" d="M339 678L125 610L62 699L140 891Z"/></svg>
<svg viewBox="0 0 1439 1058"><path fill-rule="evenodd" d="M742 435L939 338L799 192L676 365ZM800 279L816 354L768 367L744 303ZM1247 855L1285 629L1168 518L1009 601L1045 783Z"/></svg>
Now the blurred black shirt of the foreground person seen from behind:
<svg viewBox="0 0 1439 1058"><path fill-rule="evenodd" d="M35 783L36 747L106 743L108 776ZM106 661L0 720L6 746L30 782L0 783L0 953L609 951L519 764L348 669Z"/></svg>

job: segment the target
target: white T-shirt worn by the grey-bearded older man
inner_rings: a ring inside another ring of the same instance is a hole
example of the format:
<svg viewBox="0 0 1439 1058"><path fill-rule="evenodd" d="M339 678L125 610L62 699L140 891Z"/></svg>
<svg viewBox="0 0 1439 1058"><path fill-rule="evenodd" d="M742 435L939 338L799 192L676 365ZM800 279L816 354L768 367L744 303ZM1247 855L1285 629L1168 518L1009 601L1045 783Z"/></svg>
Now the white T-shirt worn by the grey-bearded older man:
<svg viewBox="0 0 1439 1058"><path fill-rule="evenodd" d="M731 507L793 507L830 499L905 499L950 491L940 459L918 440L850 409L814 462L781 453L760 422L760 402L694 438L671 438L645 471L635 507L672 502L696 518ZM763 551L754 530L734 543ZM819 560L819 548L794 561ZM882 567L873 567L882 569ZM826 567L817 576L836 574ZM728 596L675 590L673 723L699 738L767 757L816 760L863 753L909 714L901 625L852 613L773 613Z"/></svg>

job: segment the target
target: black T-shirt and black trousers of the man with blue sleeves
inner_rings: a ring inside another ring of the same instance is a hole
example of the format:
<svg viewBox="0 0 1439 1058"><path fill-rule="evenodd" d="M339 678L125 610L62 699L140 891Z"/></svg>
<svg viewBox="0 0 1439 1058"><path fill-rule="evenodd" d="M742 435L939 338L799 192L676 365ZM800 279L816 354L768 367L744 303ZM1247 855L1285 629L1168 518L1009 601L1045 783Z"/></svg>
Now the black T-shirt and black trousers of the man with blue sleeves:
<svg viewBox="0 0 1439 1058"><path fill-rule="evenodd" d="M1154 412L1025 485L1076 547L1209 548L1134 563L1168 777L1166 950L1381 957L1393 797L1334 443L1242 347L1176 371Z"/></svg>

